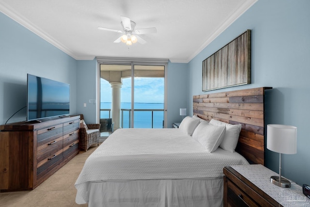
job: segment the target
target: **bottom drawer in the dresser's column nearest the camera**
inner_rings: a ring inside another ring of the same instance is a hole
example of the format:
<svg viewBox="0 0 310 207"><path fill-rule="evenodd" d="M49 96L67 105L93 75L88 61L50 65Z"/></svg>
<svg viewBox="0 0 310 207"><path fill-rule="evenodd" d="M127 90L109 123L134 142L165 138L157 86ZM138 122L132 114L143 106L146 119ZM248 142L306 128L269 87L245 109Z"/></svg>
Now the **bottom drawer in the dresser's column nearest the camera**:
<svg viewBox="0 0 310 207"><path fill-rule="evenodd" d="M37 163L37 179L40 179L48 171L62 163L63 160L63 149L57 151L55 154L49 156L46 159Z"/></svg>

